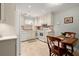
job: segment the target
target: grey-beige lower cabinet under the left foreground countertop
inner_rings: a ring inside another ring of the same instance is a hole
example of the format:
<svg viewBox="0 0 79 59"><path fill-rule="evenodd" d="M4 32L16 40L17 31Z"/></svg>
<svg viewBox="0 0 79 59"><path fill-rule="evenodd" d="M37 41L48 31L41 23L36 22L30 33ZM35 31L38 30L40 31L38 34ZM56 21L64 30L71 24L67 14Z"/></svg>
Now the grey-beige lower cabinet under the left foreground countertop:
<svg viewBox="0 0 79 59"><path fill-rule="evenodd" d="M0 56L16 55L16 39L0 41Z"/></svg>

